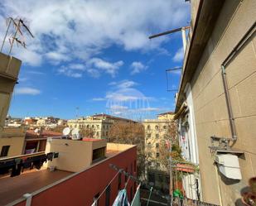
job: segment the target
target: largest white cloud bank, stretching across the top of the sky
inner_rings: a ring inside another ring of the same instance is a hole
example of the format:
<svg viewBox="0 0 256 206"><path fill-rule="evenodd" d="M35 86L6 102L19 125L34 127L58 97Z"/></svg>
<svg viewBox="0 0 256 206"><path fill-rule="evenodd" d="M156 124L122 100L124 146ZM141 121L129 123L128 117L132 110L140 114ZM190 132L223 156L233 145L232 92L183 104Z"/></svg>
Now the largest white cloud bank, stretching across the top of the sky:
<svg viewBox="0 0 256 206"><path fill-rule="evenodd" d="M27 37L27 50L14 48L29 65L89 60L109 46L123 50L159 48L165 37L147 36L186 25L189 3L180 0L80 1L2 0L3 17L26 17L35 38ZM0 39L6 26L0 23ZM113 71L111 71L113 74Z"/></svg>

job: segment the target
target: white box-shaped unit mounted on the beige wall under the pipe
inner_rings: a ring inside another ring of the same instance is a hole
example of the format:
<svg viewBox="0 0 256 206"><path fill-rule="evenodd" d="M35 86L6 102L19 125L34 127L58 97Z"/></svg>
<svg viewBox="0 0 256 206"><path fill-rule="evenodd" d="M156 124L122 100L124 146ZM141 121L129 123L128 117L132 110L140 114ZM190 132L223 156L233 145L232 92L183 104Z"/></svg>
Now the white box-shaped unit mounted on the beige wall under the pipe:
<svg viewBox="0 0 256 206"><path fill-rule="evenodd" d="M233 180L242 180L238 156L231 154L216 155L217 163L221 174Z"/></svg>

